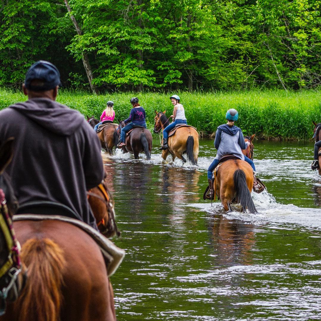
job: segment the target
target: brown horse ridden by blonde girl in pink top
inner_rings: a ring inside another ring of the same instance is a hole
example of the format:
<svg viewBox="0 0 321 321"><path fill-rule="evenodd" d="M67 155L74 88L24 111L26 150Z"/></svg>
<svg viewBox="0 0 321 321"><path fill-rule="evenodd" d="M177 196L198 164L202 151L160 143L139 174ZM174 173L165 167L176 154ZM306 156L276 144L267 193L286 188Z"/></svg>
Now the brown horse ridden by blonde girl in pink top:
<svg viewBox="0 0 321 321"><path fill-rule="evenodd" d="M89 118L87 116L87 123L94 128L99 123L99 120L93 117ZM117 128L118 124L109 123L97 133L101 147L106 149L109 155L113 154L113 147L115 146L116 148L119 141L119 133Z"/></svg>

